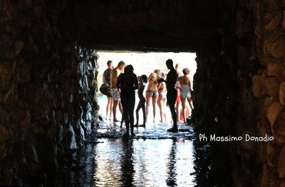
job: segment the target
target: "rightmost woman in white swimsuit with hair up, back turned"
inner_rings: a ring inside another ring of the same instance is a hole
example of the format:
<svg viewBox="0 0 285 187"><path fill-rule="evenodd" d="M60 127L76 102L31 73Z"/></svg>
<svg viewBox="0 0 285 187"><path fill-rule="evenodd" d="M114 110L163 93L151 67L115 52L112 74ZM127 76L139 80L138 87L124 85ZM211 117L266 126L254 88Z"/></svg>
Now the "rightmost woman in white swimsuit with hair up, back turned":
<svg viewBox="0 0 285 187"><path fill-rule="evenodd" d="M184 76L181 76L178 78L178 81L180 82L181 87L181 102L182 102L182 114L183 114L183 120L184 123L186 123L186 99L189 103L189 106L191 110L193 109L192 103L191 103L191 81L190 81L190 69L185 68L183 69Z"/></svg>

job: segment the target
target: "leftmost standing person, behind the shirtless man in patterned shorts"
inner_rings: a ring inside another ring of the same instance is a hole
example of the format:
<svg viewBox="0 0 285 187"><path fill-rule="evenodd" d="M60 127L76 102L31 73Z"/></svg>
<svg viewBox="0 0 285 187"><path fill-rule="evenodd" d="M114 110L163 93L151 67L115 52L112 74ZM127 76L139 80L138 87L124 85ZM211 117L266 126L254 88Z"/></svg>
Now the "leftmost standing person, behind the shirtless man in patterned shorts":
<svg viewBox="0 0 285 187"><path fill-rule="evenodd" d="M103 73L103 83L107 83L110 85L110 76L111 76L111 71L113 69L113 61L108 61L107 62L108 69L106 69ZM111 119L112 118L112 110L113 110L113 98L111 96L111 93L107 94L108 98L108 103L106 106L106 119Z"/></svg>

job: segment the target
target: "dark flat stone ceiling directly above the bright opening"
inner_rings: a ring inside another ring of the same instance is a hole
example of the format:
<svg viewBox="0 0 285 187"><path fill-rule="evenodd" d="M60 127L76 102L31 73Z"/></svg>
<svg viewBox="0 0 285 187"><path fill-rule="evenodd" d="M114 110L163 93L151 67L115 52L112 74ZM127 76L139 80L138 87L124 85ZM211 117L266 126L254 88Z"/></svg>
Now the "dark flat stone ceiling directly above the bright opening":
<svg viewBox="0 0 285 187"><path fill-rule="evenodd" d="M74 1L78 39L96 49L197 51L215 48L219 1Z"/></svg>

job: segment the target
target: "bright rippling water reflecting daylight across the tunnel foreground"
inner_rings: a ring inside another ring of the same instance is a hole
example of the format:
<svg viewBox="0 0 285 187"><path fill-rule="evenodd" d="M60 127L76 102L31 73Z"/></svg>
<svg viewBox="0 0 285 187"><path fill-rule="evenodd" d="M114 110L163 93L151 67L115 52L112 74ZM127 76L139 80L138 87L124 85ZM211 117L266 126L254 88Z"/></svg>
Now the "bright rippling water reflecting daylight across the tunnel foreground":
<svg viewBox="0 0 285 187"><path fill-rule="evenodd" d="M71 186L195 186L192 141L101 138L73 159Z"/></svg>

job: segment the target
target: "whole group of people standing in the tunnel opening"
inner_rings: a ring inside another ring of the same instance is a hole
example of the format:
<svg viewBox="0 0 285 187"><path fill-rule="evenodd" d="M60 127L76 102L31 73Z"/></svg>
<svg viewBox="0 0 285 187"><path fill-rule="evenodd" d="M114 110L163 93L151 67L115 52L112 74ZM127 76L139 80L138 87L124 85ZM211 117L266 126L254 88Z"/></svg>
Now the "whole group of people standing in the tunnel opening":
<svg viewBox="0 0 285 187"><path fill-rule="evenodd" d="M125 121L126 132L123 136L135 136L134 127L143 126L150 113L150 103L152 103L153 119L155 122L156 104L160 108L161 122L167 121L165 106L169 106L172 114L172 128L167 131L177 132L177 121L180 121L180 111L182 111L182 122L186 123L187 114L192 110L191 98L191 80L190 69L183 69L182 74L179 71L179 65L173 66L173 61L166 61L167 69L170 71L165 75L160 70L155 70L147 78L146 75L136 76L132 65L125 66L125 62L120 61L118 66L113 69L113 62L107 62L108 69L103 73L103 82L110 84L110 93L106 108L106 117L111 118L113 112L113 121L119 122L116 118L117 108L122 113L121 126ZM148 82L148 84L147 84ZM147 89L145 90L145 86ZM135 109L135 90L138 89L139 103L136 109L136 123L134 124ZM144 94L145 93L145 94ZM189 106L187 107L187 102ZM182 110L180 106L182 105ZM176 107L175 107L176 106ZM190 108L189 108L190 107ZM139 111L142 109L143 123L139 125ZM188 112L187 112L188 111ZM178 116L177 116L178 114Z"/></svg>

